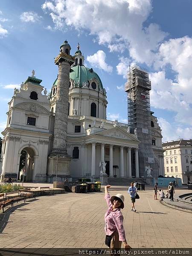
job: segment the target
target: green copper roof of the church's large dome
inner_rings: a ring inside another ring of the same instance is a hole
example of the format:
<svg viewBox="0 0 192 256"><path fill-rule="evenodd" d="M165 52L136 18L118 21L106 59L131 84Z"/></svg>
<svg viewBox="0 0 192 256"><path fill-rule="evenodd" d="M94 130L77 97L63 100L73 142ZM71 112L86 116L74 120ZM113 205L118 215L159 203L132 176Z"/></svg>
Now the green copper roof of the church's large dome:
<svg viewBox="0 0 192 256"><path fill-rule="evenodd" d="M103 89L102 81L100 77L97 75L93 69L89 69L88 67L84 66L74 66L70 68L70 79L75 81L76 87L82 87L83 83L88 83L91 79L96 79L99 83L99 88ZM57 79L55 80L53 85L57 85Z"/></svg>

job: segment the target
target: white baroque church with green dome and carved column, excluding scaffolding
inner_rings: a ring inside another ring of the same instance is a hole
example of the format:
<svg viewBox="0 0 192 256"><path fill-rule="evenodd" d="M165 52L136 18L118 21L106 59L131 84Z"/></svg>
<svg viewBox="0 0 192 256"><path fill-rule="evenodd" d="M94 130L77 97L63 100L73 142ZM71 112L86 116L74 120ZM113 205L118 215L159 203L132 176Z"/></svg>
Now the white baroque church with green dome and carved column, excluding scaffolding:
<svg viewBox="0 0 192 256"><path fill-rule="evenodd" d="M2 132L0 179L9 174L19 179L23 151L26 181L52 182L56 176L98 180L101 163L110 178L144 178L137 131L106 119L108 101L101 79L84 66L79 45L74 56L70 50L64 41L55 58L58 76L49 95L34 71L19 90L15 88ZM164 175L161 129L153 112L151 124L158 175Z"/></svg>

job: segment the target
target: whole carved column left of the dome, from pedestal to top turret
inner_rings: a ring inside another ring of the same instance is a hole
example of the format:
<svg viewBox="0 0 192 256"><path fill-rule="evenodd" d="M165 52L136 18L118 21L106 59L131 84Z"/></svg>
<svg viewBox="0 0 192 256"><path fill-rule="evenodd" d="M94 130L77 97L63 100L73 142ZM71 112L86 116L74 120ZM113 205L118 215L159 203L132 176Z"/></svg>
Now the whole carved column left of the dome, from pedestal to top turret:
<svg viewBox="0 0 192 256"><path fill-rule="evenodd" d="M67 41L64 41L60 49L60 54L55 58L55 64L58 65L58 80L53 145L48 158L47 178L49 182L55 180L56 177L57 180L64 180L65 177L70 177L71 157L67 154L67 118L70 66L75 62L75 58L70 55L71 47ZM58 159L58 165L56 165L56 158Z"/></svg>

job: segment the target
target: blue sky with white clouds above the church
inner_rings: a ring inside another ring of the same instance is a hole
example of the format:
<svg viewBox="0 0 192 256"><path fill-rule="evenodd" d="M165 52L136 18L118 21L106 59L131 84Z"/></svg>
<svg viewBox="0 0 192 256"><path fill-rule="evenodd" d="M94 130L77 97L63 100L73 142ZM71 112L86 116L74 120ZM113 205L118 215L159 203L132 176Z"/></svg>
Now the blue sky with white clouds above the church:
<svg viewBox="0 0 192 256"><path fill-rule="evenodd" d="M192 138L191 12L191 0L1 0L0 130L14 87L32 69L51 88L67 39L102 79L108 119L126 122L126 70L137 63L149 70L163 141Z"/></svg>

